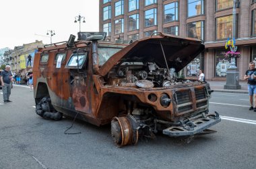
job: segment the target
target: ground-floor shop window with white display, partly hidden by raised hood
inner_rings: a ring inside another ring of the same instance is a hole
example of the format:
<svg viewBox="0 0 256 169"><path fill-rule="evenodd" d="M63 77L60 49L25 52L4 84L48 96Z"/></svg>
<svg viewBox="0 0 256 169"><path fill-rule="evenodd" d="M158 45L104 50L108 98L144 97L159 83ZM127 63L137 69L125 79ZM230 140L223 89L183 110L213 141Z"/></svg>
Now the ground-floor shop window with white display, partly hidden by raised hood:
<svg viewBox="0 0 256 169"><path fill-rule="evenodd" d="M203 65L203 54L199 54L197 57L195 57L195 59L193 59L193 61L191 61L188 65L187 65L187 71L186 71L186 76L194 76L197 77L199 76L199 70L203 70L204 65Z"/></svg>

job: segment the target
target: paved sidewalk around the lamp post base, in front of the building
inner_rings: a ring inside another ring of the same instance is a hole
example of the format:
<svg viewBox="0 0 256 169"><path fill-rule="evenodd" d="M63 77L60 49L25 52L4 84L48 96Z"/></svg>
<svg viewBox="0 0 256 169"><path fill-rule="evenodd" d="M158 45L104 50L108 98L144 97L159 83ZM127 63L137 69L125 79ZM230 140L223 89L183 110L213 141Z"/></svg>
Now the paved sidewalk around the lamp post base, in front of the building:
<svg viewBox="0 0 256 169"><path fill-rule="evenodd" d="M214 90L214 92L248 94L247 81L239 81L239 85L241 85L241 89L238 89L238 90L224 89L224 85L226 85L226 81L207 81L207 82L210 83L210 87L212 90Z"/></svg>

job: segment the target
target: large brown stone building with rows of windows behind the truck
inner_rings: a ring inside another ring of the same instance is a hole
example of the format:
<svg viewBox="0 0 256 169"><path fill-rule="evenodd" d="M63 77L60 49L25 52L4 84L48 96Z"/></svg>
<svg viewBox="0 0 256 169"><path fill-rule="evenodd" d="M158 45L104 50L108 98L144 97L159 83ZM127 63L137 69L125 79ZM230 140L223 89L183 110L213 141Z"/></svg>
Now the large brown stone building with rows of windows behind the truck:
<svg viewBox="0 0 256 169"><path fill-rule="evenodd" d="M232 38L234 0L100 0L100 31L107 40L136 40L164 32L199 38L205 51L180 74L197 78L203 69L207 80L226 80L230 59L224 57L227 38ZM237 51L239 79L248 63L256 63L256 0L236 1Z"/></svg>

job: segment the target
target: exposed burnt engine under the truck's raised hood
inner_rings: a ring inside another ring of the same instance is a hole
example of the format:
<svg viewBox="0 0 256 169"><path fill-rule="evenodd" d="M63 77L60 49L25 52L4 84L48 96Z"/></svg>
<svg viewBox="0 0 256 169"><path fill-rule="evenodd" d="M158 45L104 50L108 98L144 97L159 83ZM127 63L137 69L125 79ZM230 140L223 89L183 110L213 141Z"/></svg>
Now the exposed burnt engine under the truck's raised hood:
<svg viewBox="0 0 256 169"><path fill-rule="evenodd" d="M115 73L114 73L115 72ZM139 86L140 88L161 88L181 83L190 83L189 79L177 77L174 68L166 69L156 65L156 63L125 62L119 68L112 72L110 82L115 86Z"/></svg>

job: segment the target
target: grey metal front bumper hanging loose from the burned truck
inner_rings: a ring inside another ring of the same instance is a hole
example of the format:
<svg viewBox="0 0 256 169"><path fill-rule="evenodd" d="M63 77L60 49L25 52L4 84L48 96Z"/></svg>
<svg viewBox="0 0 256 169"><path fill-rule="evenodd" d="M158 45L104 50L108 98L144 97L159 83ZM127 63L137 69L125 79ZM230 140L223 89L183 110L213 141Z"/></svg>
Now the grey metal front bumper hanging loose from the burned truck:
<svg viewBox="0 0 256 169"><path fill-rule="evenodd" d="M164 135L169 135L172 137L177 136L186 136L186 135L195 135L203 132L205 129L216 125L221 121L220 117L217 116L207 116L206 118L198 118L189 121L186 124L180 126L173 126L167 129L164 129L162 133Z"/></svg>

